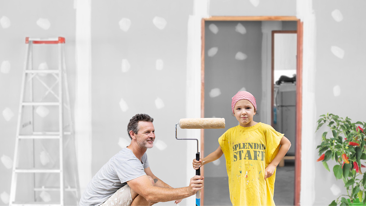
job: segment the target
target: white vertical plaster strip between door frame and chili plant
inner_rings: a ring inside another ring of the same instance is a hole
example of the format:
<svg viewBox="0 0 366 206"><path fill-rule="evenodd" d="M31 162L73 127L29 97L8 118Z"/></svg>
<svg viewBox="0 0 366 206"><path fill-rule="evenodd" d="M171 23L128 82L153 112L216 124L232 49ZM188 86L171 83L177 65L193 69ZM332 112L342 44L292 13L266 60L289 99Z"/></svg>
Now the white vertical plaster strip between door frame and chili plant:
<svg viewBox="0 0 366 206"><path fill-rule="evenodd" d="M312 0L297 0L297 17L303 22L302 141L300 205L315 201L315 14Z"/></svg>

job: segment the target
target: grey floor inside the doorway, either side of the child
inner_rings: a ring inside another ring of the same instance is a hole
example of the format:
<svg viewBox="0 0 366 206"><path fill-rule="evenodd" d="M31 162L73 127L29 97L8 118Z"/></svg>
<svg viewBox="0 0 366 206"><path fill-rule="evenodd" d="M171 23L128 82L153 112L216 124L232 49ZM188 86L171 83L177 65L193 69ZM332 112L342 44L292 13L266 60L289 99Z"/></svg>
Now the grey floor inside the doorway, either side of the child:
<svg viewBox="0 0 366 206"><path fill-rule="evenodd" d="M277 167L275 204L294 205L294 162L285 162L284 167ZM205 177L205 205L232 205L229 197L227 177Z"/></svg>

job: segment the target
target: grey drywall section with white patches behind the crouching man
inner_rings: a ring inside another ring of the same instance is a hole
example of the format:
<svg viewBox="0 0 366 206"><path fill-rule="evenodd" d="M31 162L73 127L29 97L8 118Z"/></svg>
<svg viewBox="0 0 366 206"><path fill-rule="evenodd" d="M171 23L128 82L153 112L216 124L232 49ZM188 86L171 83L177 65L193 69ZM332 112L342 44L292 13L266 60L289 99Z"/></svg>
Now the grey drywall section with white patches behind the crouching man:
<svg viewBox="0 0 366 206"><path fill-rule="evenodd" d="M110 0L91 6L92 174L129 145L130 118L147 113L156 134L146 152L152 172L172 187L188 186L182 162L186 144L195 142L176 140L175 123L186 118L187 23L193 2ZM185 134L179 129L178 138Z"/></svg>

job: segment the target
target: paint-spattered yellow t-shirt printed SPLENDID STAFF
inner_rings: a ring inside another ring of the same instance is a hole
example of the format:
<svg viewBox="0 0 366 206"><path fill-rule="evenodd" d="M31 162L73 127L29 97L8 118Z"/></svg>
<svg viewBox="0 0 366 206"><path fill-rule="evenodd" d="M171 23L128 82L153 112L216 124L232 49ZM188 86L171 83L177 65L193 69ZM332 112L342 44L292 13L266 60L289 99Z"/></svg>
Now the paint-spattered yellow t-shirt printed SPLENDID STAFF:
<svg viewBox="0 0 366 206"><path fill-rule="evenodd" d="M283 135L270 125L259 122L252 127L232 127L219 138L233 206L275 205L276 170L266 180L264 174L280 149Z"/></svg>

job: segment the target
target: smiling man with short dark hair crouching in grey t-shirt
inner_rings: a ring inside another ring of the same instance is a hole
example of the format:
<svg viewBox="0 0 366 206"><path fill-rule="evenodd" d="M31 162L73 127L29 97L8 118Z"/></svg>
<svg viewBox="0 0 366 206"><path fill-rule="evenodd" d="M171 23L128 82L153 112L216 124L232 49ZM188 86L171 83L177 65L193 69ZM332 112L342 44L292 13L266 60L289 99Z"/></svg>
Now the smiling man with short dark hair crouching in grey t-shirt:
<svg viewBox="0 0 366 206"><path fill-rule="evenodd" d="M194 195L203 187L203 176L191 178L188 187L172 188L151 171L147 154L153 147L153 118L137 114L127 126L131 144L113 156L96 173L81 196L79 205L153 205Z"/></svg>

